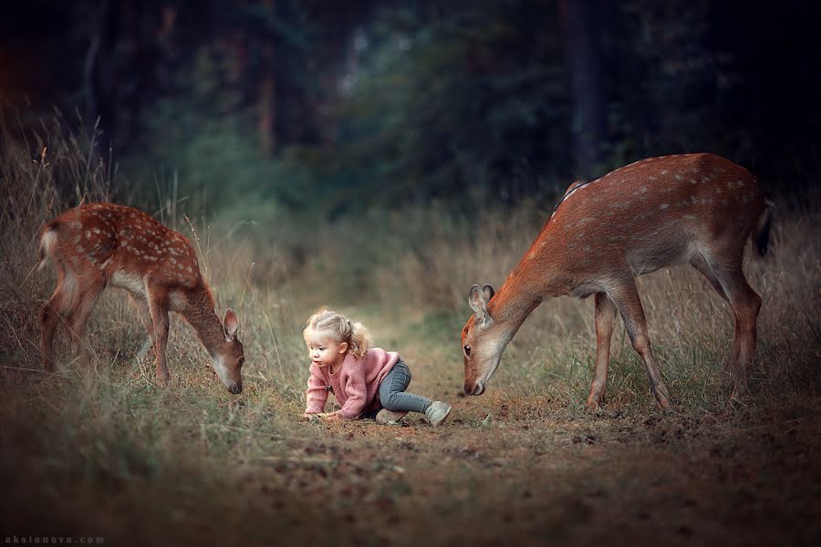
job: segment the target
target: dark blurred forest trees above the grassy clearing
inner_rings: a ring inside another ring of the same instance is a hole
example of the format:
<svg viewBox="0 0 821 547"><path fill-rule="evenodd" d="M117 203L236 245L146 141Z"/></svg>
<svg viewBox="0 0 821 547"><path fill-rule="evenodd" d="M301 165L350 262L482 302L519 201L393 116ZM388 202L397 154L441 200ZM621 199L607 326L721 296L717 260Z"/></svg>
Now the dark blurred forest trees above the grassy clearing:
<svg viewBox="0 0 821 547"><path fill-rule="evenodd" d="M791 192L819 172L819 15L798 0L5 2L0 100L24 133L58 111L120 188L258 220L552 200L691 151Z"/></svg>

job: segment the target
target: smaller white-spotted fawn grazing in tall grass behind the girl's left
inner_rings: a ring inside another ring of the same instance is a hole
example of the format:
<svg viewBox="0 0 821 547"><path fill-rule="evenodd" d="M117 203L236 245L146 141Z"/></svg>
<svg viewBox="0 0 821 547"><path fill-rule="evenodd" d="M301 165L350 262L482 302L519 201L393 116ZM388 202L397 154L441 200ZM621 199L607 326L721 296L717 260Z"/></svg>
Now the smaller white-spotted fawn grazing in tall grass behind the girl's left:
<svg viewBox="0 0 821 547"><path fill-rule="evenodd" d="M54 367L53 340L65 324L75 353L88 366L84 340L88 315L106 286L131 295L154 346L157 377L171 378L166 364L168 313L178 312L199 335L213 367L231 393L243 390L243 345L239 321L225 311L223 321L205 283L191 242L150 215L131 207L95 203L75 207L48 222L40 233L40 267L50 258L57 287L40 310L43 365Z"/></svg>

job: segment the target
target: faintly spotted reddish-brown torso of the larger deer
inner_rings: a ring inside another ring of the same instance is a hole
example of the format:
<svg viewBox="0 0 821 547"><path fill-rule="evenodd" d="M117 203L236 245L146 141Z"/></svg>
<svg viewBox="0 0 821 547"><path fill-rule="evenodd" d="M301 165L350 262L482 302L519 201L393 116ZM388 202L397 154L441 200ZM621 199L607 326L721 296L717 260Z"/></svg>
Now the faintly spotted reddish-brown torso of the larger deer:
<svg viewBox="0 0 821 547"><path fill-rule="evenodd" d="M713 154L650 158L568 189L540 240L568 267L634 274L743 248L764 211L753 175Z"/></svg>

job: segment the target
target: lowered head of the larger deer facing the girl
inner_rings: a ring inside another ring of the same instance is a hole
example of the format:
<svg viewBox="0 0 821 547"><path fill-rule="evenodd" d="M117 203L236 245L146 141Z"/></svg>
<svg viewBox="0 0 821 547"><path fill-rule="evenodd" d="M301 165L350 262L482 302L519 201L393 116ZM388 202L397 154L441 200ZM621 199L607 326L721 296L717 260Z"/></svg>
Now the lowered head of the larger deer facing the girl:
<svg viewBox="0 0 821 547"><path fill-rule="evenodd" d="M494 318L487 310L493 297L494 287L490 285L473 285L468 296L473 315L462 329L464 392L467 395L483 394L507 345L504 329L495 328Z"/></svg>

